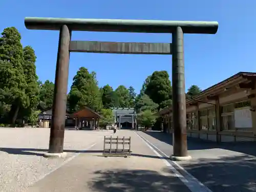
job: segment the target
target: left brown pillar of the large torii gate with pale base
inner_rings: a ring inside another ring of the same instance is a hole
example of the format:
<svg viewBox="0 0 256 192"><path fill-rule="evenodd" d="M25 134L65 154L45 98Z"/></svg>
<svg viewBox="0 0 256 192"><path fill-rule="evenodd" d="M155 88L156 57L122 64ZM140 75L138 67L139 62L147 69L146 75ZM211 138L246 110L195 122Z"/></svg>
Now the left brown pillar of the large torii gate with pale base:
<svg viewBox="0 0 256 192"><path fill-rule="evenodd" d="M55 73L49 152L46 153L44 157L66 156L66 153L63 153L63 142L67 107L70 40L71 31L69 30L68 26L61 26L59 33L59 44Z"/></svg>

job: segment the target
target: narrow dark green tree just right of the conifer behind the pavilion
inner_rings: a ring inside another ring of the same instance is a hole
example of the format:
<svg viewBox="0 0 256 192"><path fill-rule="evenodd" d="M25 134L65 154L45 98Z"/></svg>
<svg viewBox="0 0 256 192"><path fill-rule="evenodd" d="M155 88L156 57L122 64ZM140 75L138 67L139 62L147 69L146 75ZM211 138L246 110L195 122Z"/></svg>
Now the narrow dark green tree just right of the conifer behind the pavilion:
<svg viewBox="0 0 256 192"><path fill-rule="evenodd" d="M113 108L115 105L115 98L113 97L114 91L113 88L109 86L109 84L106 84L102 88L102 105L104 109L110 109Z"/></svg>

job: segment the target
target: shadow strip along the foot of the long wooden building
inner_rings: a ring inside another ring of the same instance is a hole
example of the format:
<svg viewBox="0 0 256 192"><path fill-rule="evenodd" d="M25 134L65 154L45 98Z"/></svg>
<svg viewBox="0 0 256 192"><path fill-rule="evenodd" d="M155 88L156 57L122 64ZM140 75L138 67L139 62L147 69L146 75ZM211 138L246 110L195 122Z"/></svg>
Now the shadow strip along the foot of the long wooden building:
<svg viewBox="0 0 256 192"><path fill-rule="evenodd" d="M169 145L173 145L173 136L162 132L143 132L151 137L154 137ZM210 148L222 148L223 150L229 150L239 153L244 153L252 156L256 156L256 142L230 142L230 143L217 143L214 141L202 140L199 138L188 137L187 138L188 150L208 150ZM256 175L255 175L256 178Z"/></svg>

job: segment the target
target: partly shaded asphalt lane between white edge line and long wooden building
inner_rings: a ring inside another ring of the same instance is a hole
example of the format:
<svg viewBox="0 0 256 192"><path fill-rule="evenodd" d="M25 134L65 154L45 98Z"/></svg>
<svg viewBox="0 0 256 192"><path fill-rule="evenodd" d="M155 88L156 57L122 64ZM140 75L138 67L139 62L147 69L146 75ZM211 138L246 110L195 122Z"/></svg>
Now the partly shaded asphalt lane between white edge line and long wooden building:
<svg viewBox="0 0 256 192"><path fill-rule="evenodd" d="M173 154L172 135L138 132L162 156ZM160 151L159 151L159 150ZM170 162L185 178L211 191L256 191L256 143L220 143L188 138L189 162Z"/></svg>

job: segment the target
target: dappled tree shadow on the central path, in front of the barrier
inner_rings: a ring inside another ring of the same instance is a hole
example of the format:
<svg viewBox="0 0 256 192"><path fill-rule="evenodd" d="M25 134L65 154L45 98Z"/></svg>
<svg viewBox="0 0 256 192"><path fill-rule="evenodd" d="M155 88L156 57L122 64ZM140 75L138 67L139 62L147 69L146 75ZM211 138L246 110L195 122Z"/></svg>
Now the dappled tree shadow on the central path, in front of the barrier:
<svg viewBox="0 0 256 192"><path fill-rule="evenodd" d="M93 191L104 192L188 192L189 189L173 174L161 175L151 170L111 169L97 170L89 181Z"/></svg>

